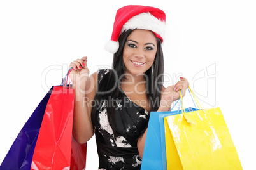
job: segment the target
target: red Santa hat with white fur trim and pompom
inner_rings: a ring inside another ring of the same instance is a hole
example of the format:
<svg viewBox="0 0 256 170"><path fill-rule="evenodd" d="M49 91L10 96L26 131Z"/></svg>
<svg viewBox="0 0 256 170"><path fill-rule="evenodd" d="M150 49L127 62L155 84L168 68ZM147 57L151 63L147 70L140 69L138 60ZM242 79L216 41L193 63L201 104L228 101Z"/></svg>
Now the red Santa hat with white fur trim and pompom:
<svg viewBox="0 0 256 170"><path fill-rule="evenodd" d="M122 32L129 29L151 30L155 37L164 41L166 14L159 8L151 6L129 5L117 10L111 40L105 49L116 53L119 48L118 38Z"/></svg>

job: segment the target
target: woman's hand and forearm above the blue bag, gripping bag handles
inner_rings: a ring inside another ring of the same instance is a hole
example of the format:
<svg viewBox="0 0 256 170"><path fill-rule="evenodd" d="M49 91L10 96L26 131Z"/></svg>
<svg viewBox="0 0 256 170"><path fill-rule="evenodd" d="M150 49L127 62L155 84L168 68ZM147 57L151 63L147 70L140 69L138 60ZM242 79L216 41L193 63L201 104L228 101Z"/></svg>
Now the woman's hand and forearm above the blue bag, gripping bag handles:
<svg viewBox="0 0 256 170"><path fill-rule="evenodd" d="M183 94L182 96L185 96L188 86L189 82L187 79L180 77L180 81L178 81L174 86L169 86L164 89L164 91L162 91L159 111L171 110L171 103L180 98L179 91L181 90Z"/></svg>

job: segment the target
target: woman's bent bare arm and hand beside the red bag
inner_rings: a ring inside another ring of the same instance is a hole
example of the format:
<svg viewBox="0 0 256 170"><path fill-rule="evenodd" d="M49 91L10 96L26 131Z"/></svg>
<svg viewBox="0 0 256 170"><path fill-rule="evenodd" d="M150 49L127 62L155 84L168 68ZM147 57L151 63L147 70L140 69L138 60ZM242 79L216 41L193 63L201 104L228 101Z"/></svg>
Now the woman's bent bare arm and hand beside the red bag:
<svg viewBox="0 0 256 170"><path fill-rule="evenodd" d="M90 89L87 57L75 60L70 64L69 69L71 67L74 70L70 72L69 77L71 78L73 89L75 89L72 133L78 143L85 143L94 135L94 128L92 128L90 119L91 108L87 103L87 99L89 101L94 99L92 93L87 91L87 88Z"/></svg>

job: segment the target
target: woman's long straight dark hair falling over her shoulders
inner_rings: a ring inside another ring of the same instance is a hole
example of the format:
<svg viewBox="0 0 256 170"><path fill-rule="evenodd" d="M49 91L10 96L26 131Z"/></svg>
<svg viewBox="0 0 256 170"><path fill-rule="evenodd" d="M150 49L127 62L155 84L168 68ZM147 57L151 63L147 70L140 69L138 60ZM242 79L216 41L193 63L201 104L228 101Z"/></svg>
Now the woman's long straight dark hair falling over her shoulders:
<svg viewBox="0 0 256 170"><path fill-rule="evenodd" d="M92 125L93 127L99 127L99 118L97 112L103 104L103 101L109 101L109 103L111 103L111 105L107 105L107 115L108 121L110 122L110 126L113 129L115 136L117 135L115 127L115 108L117 103L115 102L115 99L120 93L120 81L118 81L118 78L122 77L125 79L123 51L127 37L132 31L133 30L127 30L120 34L118 39L119 49L113 56L112 69L108 72L108 74L103 76L103 79L101 79L101 82L104 82L104 84L98 84L97 93L94 97L94 107L92 107ZM157 39L157 53L155 55L155 61L153 62L152 67L146 70L145 76L147 77L146 91L150 111L157 111L160 105L161 90L164 81L164 56L162 53L160 39ZM110 102L110 100L113 102Z"/></svg>

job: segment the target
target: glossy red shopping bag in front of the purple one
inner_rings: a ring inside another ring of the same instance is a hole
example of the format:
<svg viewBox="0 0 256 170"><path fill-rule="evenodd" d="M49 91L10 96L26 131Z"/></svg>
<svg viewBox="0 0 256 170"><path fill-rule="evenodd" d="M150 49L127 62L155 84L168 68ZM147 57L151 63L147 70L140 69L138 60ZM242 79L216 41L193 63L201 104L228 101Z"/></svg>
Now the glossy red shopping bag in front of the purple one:
<svg viewBox="0 0 256 170"><path fill-rule="evenodd" d="M31 169L85 168L86 144L79 145L72 138L74 98L74 89L62 86L53 88L34 149ZM76 156L81 158L80 161L76 162Z"/></svg>

